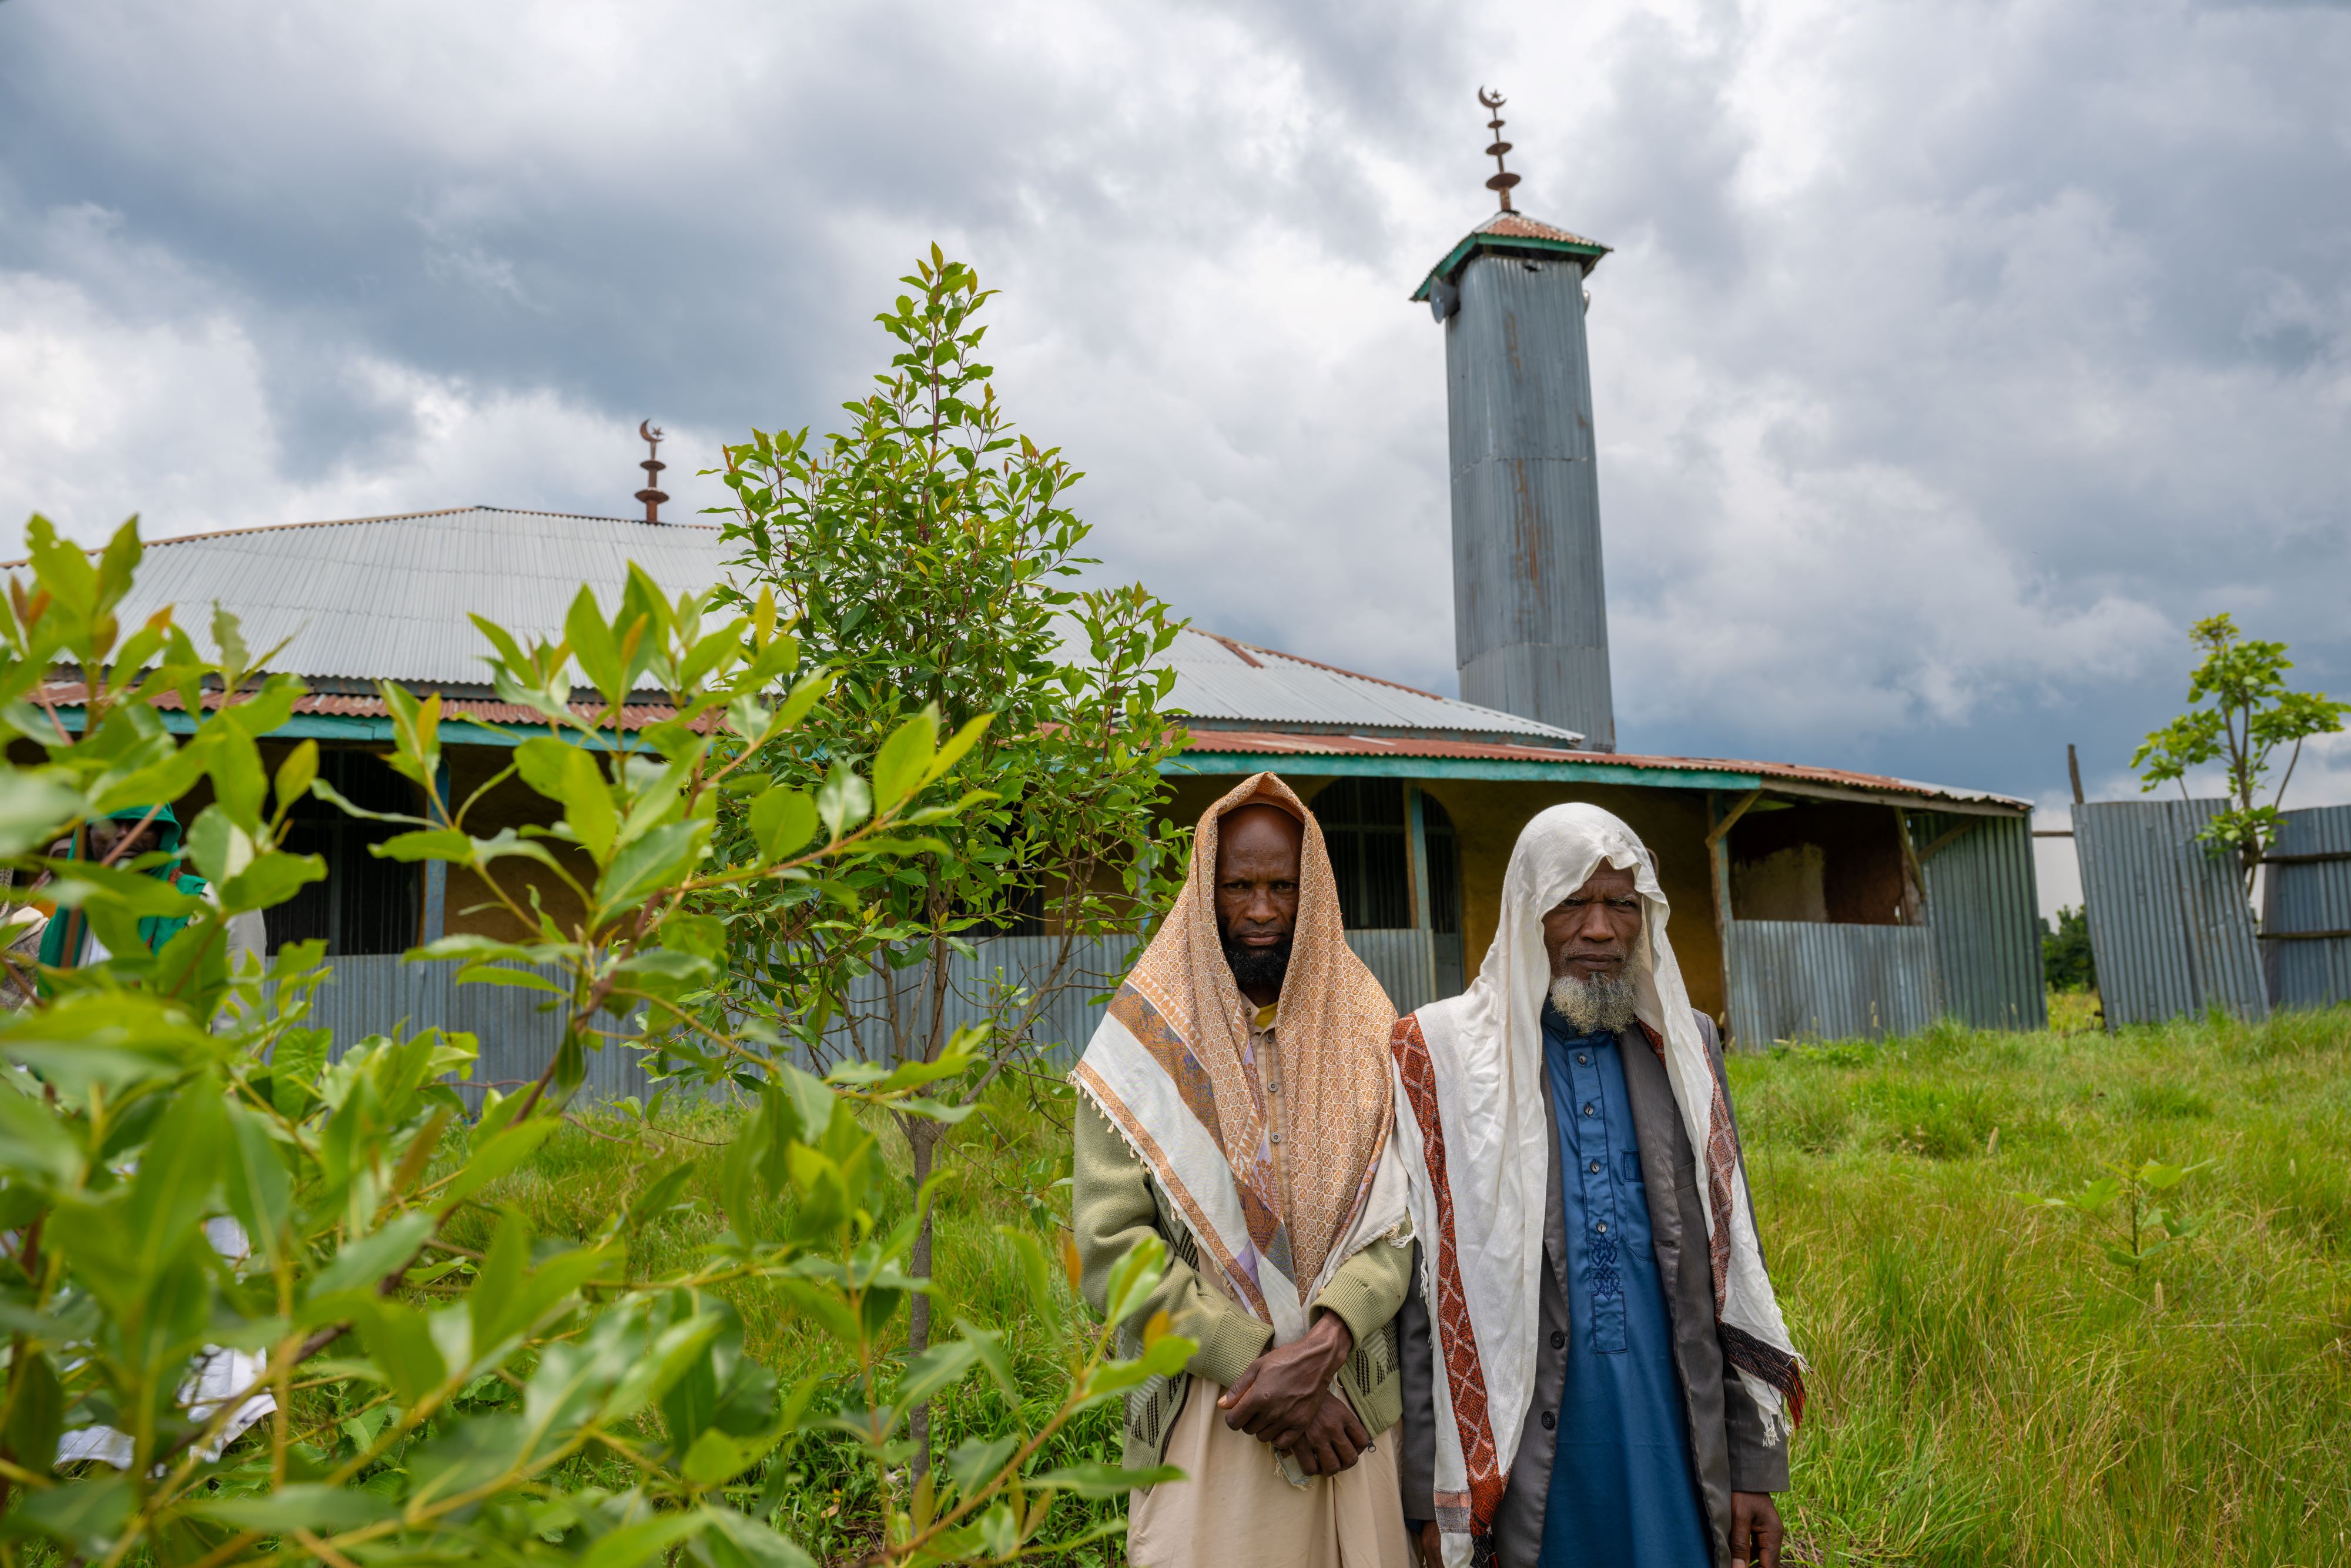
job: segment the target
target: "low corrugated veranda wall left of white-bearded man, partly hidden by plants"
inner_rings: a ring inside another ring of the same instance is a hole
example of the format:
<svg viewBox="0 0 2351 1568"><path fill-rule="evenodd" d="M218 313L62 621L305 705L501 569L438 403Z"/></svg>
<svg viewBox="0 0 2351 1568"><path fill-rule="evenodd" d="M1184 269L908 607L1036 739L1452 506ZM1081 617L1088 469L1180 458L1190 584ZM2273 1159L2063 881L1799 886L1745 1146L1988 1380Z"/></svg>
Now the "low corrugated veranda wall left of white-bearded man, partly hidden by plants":
<svg viewBox="0 0 2351 1568"><path fill-rule="evenodd" d="M1357 950L1366 966L1387 987L1399 1011L1413 1011L1436 1001L1436 938L1429 931L1349 931L1347 945ZM1455 938L1458 940L1458 938ZM976 954L957 954L947 966L952 1001L947 1023L969 1020L985 1009L990 990L997 985L1041 987L1060 954L1056 936L999 936L976 943ZM1086 938L1072 945L1065 971L1067 985L1046 997L1030 1023L1030 1041L1053 1067L1070 1067L1093 1037L1093 1025L1103 1018L1096 997L1117 990L1119 978L1133 961L1136 938L1110 936ZM402 964L397 957L343 957L331 959L334 978L317 987L310 1004L310 1023L334 1030L336 1051L357 1044L369 1034L395 1034L428 1027L468 1030L480 1039L482 1056L473 1070L473 1086L529 1084L555 1051L562 1027L552 1013L541 1013L545 992L513 985L456 985L456 964ZM538 971L555 978L555 971ZM915 994L922 971L900 971L900 1004L907 1018L922 1018L922 999ZM877 1020L886 1016L889 994L879 976L868 976L851 992L851 1020L844 1020L835 1039L856 1053L884 1051L886 1032ZM856 1027L856 1037L851 1037ZM588 1056L585 1100L621 1100L651 1095L654 1084L639 1065L637 1051L607 1046Z"/></svg>

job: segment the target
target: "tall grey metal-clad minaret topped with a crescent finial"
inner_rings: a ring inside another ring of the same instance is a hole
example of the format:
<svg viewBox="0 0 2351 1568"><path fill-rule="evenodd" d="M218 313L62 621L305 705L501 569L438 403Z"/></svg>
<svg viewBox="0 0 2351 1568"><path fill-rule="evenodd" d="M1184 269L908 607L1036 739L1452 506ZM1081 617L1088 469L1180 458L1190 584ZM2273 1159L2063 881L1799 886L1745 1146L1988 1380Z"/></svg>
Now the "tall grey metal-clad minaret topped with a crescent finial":
<svg viewBox="0 0 2351 1568"><path fill-rule="evenodd" d="M1502 209L1429 270L1415 301L1446 327L1453 663L1462 701L1615 750L1608 592L1592 461L1585 277L1606 244L1514 212L1502 96L1479 89Z"/></svg>

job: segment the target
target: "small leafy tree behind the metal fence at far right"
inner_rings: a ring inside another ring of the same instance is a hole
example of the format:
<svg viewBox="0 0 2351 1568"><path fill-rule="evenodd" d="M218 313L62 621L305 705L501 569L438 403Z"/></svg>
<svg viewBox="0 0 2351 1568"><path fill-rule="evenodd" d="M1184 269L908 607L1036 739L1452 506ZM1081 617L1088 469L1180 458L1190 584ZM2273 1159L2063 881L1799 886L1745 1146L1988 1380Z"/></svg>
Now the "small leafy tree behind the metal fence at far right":
<svg viewBox="0 0 2351 1568"><path fill-rule="evenodd" d="M2215 813L2196 837L2215 856L2236 851L2250 896L2262 851L2278 837L2278 804L2295 780L2302 743L2337 733L2351 703L2320 691L2288 691L2285 672L2295 661L2285 656L2285 644L2245 637L2226 614L2191 625L2189 639L2203 649L2203 663L2189 677L2191 708L2146 736L2130 766L2139 769L2142 795L2177 783L2186 799L2189 771L2222 764L2229 809ZM2262 802L2271 759L2288 745L2285 773L2269 802Z"/></svg>

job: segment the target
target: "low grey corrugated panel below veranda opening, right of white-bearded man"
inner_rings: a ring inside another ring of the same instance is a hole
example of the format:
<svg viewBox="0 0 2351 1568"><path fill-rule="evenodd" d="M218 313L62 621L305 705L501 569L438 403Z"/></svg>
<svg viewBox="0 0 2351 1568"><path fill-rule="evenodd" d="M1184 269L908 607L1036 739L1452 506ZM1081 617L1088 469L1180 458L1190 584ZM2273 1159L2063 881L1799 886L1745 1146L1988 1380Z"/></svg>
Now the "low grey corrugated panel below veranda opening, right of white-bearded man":
<svg viewBox="0 0 2351 1568"><path fill-rule="evenodd" d="M1935 933L1925 926L1730 922L1730 1037L1914 1034L1935 1023Z"/></svg>

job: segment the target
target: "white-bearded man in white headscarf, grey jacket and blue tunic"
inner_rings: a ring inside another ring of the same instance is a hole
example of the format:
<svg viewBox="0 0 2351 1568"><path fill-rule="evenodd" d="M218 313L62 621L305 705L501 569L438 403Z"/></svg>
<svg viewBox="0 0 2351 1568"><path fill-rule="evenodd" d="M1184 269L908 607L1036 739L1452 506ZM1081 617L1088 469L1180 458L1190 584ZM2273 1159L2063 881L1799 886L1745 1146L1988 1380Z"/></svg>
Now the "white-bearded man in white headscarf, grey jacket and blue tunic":
<svg viewBox="0 0 2351 1568"><path fill-rule="evenodd" d="M1455 1568L1777 1568L1796 1356L1641 839L1526 825L1476 983L1396 1023L1404 1512Z"/></svg>

